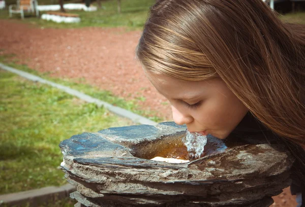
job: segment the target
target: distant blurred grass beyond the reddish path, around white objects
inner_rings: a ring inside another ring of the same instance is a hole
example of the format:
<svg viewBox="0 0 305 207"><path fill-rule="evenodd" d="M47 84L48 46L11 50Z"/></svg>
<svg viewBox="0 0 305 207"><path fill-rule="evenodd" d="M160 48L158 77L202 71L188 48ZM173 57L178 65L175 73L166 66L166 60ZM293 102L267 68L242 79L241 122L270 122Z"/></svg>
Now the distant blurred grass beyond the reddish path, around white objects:
<svg viewBox="0 0 305 207"><path fill-rule="evenodd" d="M12 4L15 1L9 1ZM52 4L52 1L41 1L39 5ZM74 1L75 2L75 1ZM69 13L78 14L81 18L80 23L56 23L38 19L34 14L25 14L25 19L20 22L30 23L40 27L53 28L78 28L78 27L126 27L128 29L140 29L143 27L149 7L153 5L155 0L123 0L121 1L121 13L117 12L117 1L108 0L102 1L102 8L95 12L85 12L71 10ZM73 3L65 1L66 3ZM58 4L57 1L55 4ZM96 3L94 3L96 6ZM45 12L42 12L43 14ZM0 19L9 19L9 12L7 10L0 10ZM13 14L12 19L20 20L20 14Z"/></svg>

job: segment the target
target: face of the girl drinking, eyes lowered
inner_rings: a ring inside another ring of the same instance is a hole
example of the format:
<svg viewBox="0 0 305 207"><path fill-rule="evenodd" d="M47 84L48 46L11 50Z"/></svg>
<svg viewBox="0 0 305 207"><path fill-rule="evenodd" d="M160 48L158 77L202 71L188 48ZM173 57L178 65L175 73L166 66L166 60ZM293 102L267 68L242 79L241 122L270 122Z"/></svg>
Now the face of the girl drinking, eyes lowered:
<svg viewBox="0 0 305 207"><path fill-rule="evenodd" d="M182 81L146 73L149 81L171 103L173 120L191 132L225 139L247 114L248 109L224 81Z"/></svg>

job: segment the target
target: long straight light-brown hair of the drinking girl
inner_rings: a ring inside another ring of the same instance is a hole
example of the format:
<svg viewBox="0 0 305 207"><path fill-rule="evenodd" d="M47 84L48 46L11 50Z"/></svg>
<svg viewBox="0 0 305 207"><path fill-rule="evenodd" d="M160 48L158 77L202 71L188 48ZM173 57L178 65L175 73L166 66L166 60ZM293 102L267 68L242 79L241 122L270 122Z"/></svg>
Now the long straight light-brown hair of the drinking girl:
<svg viewBox="0 0 305 207"><path fill-rule="evenodd" d="M305 146L305 25L261 0L161 0L136 55L181 80L220 77L267 128Z"/></svg>

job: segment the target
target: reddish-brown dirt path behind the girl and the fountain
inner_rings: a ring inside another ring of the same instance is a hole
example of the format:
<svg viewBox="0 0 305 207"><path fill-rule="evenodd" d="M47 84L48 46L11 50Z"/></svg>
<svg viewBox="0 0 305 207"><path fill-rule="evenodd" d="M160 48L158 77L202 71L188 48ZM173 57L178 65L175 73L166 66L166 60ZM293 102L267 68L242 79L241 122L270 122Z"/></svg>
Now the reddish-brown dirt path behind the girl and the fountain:
<svg viewBox="0 0 305 207"><path fill-rule="evenodd" d="M172 120L166 99L150 85L134 59L140 31L121 28L34 28L0 20L0 54L16 54L22 63L59 78L85 78L87 83L126 99L145 97L141 108ZM289 188L271 206L295 207Z"/></svg>

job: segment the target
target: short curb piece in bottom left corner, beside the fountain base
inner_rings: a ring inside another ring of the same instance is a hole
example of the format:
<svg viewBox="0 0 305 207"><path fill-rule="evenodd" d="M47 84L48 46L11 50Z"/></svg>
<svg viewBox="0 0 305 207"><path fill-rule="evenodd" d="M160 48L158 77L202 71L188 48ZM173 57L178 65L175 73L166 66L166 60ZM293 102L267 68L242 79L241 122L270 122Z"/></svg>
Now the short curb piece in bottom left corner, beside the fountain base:
<svg viewBox="0 0 305 207"><path fill-rule="evenodd" d="M71 184L66 184L59 187L49 186L18 193L3 194L0 195L0 206L2 204L6 204L8 206L19 206L27 202L31 203L31 206L39 206L39 204L47 201L50 202L55 201L56 199L64 199L74 191L76 191L74 186Z"/></svg>

